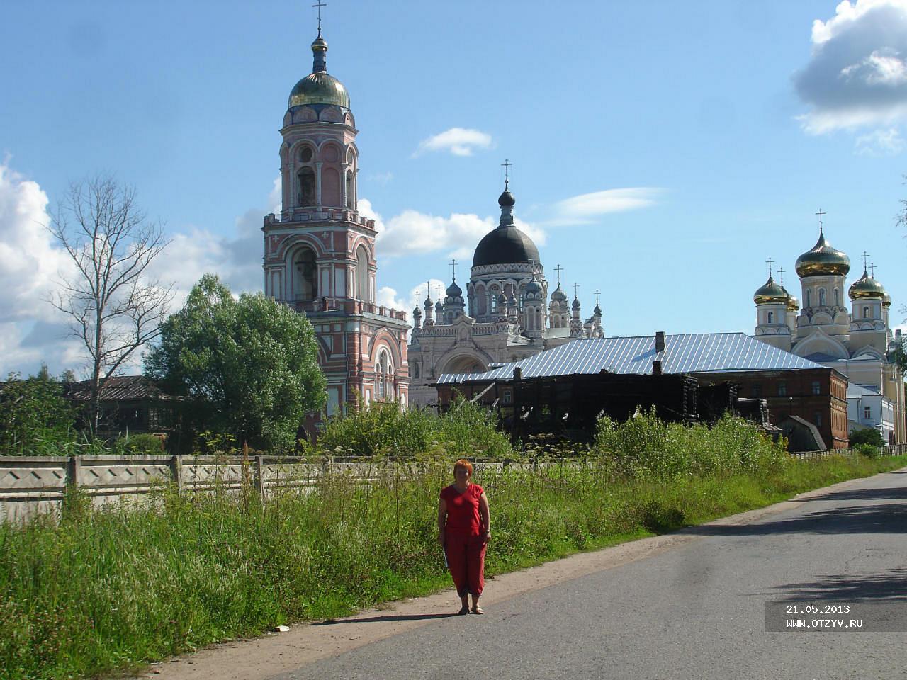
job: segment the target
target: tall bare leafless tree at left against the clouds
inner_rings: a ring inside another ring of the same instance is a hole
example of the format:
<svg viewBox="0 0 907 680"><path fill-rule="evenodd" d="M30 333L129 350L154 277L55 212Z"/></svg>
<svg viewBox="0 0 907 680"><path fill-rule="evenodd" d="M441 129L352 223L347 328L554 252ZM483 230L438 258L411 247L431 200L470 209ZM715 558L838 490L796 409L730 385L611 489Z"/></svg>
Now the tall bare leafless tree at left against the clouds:
<svg viewBox="0 0 907 680"><path fill-rule="evenodd" d="M47 228L74 266L50 302L69 316L87 350L97 432L104 382L160 334L170 310L172 284L148 271L170 241L135 205L135 189L110 177L73 184Z"/></svg>

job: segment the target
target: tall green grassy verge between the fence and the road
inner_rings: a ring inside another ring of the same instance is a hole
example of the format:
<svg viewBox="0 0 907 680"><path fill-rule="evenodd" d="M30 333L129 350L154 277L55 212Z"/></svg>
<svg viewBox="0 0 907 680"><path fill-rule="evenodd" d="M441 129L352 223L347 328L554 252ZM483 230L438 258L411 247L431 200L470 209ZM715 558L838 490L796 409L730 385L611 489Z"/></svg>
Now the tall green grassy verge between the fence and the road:
<svg viewBox="0 0 907 680"><path fill-rule="evenodd" d="M616 481L585 470L484 472L494 539L487 573L696 524L907 457L830 458L743 473ZM345 479L262 503L162 490L146 510L0 525L0 678L69 678L141 665L278 624L448 586L435 539L449 461L369 486Z"/></svg>

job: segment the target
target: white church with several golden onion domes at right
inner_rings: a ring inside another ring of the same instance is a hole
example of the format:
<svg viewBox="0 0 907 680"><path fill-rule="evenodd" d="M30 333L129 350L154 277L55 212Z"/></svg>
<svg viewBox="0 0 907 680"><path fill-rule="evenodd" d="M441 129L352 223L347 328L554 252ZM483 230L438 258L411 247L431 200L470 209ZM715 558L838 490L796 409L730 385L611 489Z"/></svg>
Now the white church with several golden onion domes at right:
<svg viewBox="0 0 907 680"><path fill-rule="evenodd" d="M846 286L850 258L832 247L819 226L815 246L796 260L803 306L783 281L769 274L753 296L755 337L769 345L811 359L844 374L890 403L890 418L879 414L877 429L886 442L902 443L905 435L904 376L889 357L901 344L901 332L889 325L891 296L863 267L863 276ZM850 300L848 310L844 294ZM883 400L880 400L880 402ZM871 413L864 415L872 415ZM868 421L862 418L861 421ZM883 425L882 423L888 423ZM820 423L821 424L821 423ZM848 423L848 431L860 422Z"/></svg>

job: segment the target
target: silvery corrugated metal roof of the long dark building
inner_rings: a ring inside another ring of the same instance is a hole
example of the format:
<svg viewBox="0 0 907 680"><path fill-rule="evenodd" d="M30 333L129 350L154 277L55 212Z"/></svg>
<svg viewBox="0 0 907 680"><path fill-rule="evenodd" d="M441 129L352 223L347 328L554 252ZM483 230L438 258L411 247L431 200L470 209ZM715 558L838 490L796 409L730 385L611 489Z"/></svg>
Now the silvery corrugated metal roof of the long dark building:
<svg viewBox="0 0 907 680"><path fill-rule="evenodd" d="M655 351L654 335L644 335L578 339L483 374L443 374L438 384L508 380L515 366L520 366L523 378L601 371L650 374L653 361L660 361L662 372L667 374L824 368L745 333L666 335L663 352Z"/></svg>

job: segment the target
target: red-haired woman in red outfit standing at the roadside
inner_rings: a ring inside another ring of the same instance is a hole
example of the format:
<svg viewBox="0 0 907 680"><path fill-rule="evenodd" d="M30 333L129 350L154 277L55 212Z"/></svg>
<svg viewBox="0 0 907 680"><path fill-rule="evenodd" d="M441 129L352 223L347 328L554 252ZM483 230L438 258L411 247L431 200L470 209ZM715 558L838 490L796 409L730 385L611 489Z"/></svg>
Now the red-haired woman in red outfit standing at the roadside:
<svg viewBox="0 0 907 680"><path fill-rule="evenodd" d="M485 547L492 538L488 497L473 484L473 465L461 458L453 463L453 484L444 487L438 500L438 542L447 555L447 564L460 596L459 614L484 614L479 597L485 586Z"/></svg>

